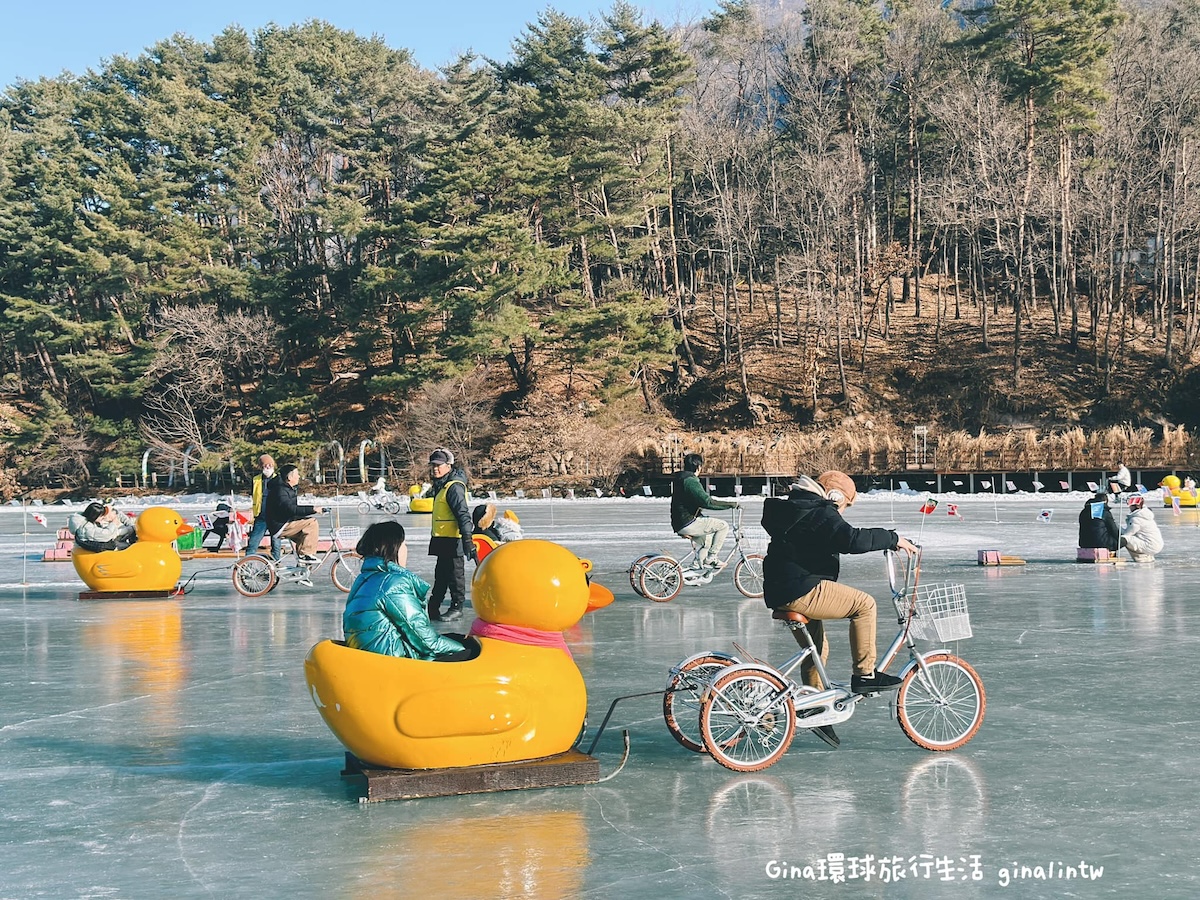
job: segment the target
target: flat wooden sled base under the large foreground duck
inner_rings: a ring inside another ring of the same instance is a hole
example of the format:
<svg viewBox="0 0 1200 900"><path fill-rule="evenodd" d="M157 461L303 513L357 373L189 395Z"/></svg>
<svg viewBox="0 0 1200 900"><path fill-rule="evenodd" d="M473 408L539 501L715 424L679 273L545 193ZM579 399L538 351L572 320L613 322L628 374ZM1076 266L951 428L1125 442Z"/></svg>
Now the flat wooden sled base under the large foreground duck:
<svg viewBox="0 0 1200 900"><path fill-rule="evenodd" d="M419 797L454 797L464 793L521 791L529 787L594 785L600 781L600 761L568 750L544 760L500 762L451 769L386 769L346 754L342 779L360 792L364 803L410 800Z"/></svg>

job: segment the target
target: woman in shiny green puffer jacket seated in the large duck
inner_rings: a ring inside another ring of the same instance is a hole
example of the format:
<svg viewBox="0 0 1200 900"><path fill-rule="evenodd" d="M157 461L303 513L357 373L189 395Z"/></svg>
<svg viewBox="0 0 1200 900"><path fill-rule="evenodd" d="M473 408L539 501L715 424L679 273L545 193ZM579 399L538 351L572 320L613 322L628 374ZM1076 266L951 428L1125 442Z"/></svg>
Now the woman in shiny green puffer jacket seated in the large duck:
<svg viewBox="0 0 1200 900"><path fill-rule="evenodd" d="M436 661L472 659L476 654L438 634L430 622L425 610L430 586L404 568L404 526L377 522L367 528L355 551L362 557L362 571L350 587L342 613L348 647Z"/></svg>

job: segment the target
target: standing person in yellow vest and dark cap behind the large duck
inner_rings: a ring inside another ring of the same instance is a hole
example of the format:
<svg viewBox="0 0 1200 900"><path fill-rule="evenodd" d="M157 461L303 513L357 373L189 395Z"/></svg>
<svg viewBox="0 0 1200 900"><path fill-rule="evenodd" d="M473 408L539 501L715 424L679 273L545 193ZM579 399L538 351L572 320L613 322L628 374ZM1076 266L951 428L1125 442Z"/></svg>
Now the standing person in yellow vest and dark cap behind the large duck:
<svg viewBox="0 0 1200 900"><path fill-rule="evenodd" d="M433 566L433 587L430 589L428 611L433 622L462 618L467 602L467 565L475 558L470 535L474 524L467 505L467 475L455 468L454 454L438 448L430 454L430 474L433 478L433 524L430 533L430 556L437 557ZM442 614L442 601L450 592L450 608Z"/></svg>

